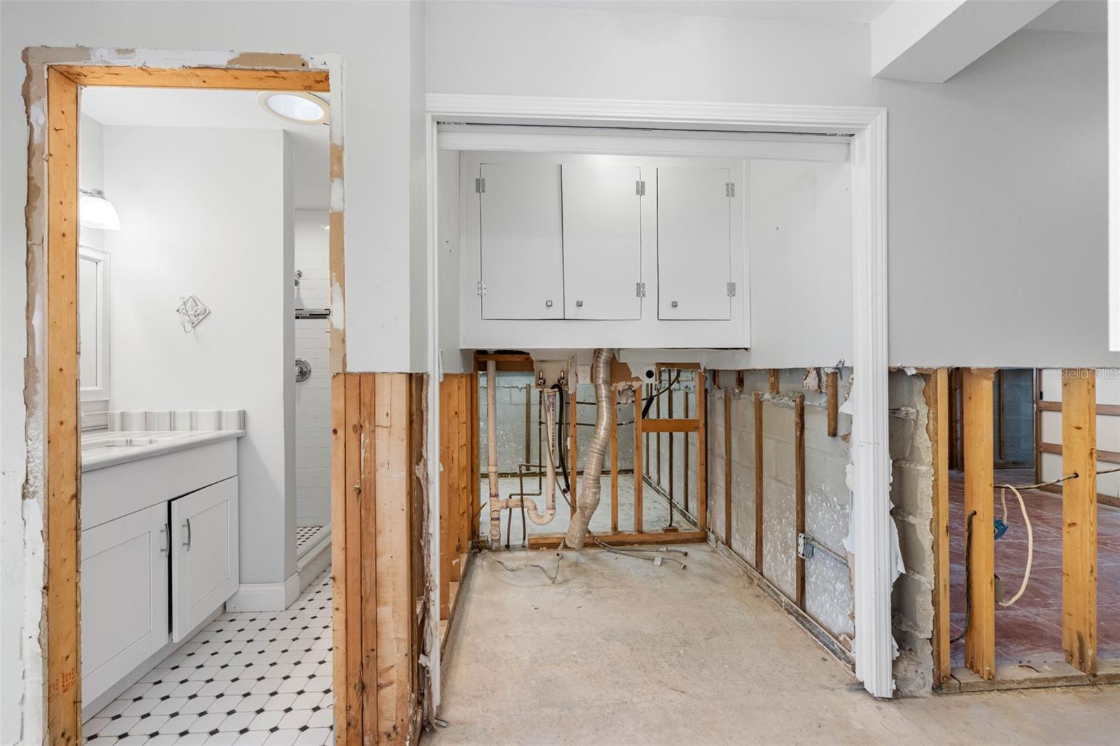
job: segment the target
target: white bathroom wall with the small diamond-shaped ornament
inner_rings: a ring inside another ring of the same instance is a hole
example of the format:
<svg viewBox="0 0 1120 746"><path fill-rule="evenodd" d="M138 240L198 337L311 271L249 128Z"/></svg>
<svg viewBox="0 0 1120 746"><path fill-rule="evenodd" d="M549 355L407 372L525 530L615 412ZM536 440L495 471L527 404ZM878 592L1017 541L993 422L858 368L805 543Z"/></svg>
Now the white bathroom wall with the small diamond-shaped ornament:
<svg viewBox="0 0 1120 746"><path fill-rule="evenodd" d="M106 127L112 409L244 409L241 581L296 570L290 143L279 130ZM211 309L190 334L175 308Z"/></svg>

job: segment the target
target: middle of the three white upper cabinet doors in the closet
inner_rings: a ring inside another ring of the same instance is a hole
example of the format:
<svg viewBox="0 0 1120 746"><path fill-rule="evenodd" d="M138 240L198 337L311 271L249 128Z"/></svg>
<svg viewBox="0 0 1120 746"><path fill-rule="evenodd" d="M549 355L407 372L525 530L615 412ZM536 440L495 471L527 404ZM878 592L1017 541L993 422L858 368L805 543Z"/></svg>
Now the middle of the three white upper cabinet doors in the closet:
<svg viewBox="0 0 1120 746"><path fill-rule="evenodd" d="M564 318L642 318L642 169L563 167Z"/></svg>

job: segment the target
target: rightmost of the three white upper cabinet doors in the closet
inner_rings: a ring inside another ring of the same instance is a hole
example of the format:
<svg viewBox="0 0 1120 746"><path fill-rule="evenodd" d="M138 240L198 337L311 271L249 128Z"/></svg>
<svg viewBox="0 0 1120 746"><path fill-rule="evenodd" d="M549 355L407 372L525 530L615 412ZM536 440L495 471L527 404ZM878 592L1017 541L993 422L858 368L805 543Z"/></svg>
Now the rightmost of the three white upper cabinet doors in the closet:
<svg viewBox="0 0 1120 746"><path fill-rule="evenodd" d="M731 318L731 171L657 169L657 318Z"/></svg>

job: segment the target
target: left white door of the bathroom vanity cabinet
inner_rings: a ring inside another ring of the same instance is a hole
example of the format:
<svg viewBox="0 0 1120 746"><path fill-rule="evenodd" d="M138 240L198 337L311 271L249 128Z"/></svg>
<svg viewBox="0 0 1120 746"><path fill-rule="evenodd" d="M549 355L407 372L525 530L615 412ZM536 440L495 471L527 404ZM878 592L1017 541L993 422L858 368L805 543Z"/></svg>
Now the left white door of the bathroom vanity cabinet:
<svg viewBox="0 0 1120 746"><path fill-rule="evenodd" d="M82 697L167 644L167 503L82 532Z"/></svg>

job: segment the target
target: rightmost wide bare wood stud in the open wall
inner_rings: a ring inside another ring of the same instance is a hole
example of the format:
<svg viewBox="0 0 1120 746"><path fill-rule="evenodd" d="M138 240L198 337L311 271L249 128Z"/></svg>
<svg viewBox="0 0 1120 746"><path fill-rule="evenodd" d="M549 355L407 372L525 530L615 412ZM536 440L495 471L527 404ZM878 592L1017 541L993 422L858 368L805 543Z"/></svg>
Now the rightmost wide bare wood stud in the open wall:
<svg viewBox="0 0 1120 746"><path fill-rule="evenodd" d="M1096 674L1096 371L1062 372L1062 650Z"/></svg>

